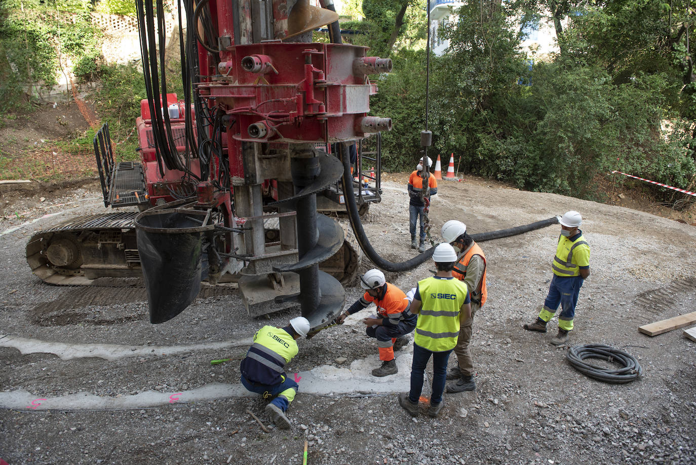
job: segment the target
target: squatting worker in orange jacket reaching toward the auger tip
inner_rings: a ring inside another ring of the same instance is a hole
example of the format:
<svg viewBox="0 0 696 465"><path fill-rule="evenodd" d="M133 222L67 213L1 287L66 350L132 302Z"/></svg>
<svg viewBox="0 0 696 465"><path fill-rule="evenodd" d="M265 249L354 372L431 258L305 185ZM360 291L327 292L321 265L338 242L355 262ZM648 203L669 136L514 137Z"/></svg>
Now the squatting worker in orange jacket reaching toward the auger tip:
<svg viewBox="0 0 696 465"><path fill-rule="evenodd" d="M416 315L406 312L409 300L406 294L394 284L386 282L384 273L372 269L360 277L360 285L365 294L356 300L348 310L335 319L342 323L348 315L363 310L371 303L377 305L377 317L363 319L367 328L367 337L377 339L379 360L382 365L372 370L372 376L388 376L399 371L394 358L394 351L409 342L406 335L416 328Z"/></svg>

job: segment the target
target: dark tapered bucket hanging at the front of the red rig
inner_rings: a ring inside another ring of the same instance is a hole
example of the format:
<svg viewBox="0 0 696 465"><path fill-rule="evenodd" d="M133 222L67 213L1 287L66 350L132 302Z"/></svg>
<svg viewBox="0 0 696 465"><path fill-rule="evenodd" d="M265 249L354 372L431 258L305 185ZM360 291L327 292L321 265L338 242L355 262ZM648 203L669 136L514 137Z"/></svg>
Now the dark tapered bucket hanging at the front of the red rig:
<svg viewBox="0 0 696 465"><path fill-rule="evenodd" d="M205 211L145 211L135 220L150 323L164 323L189 306L207 272ZM200 220L196 216L200 215ZM204 269L205 268L205 269Z"/></svg>

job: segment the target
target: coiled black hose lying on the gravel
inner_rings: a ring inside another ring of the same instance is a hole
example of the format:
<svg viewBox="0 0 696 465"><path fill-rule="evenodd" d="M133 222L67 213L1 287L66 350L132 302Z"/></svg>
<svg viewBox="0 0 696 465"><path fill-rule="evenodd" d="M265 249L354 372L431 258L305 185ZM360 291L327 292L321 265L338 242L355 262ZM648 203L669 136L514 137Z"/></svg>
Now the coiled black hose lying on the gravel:
<svg viewBox="0 0 696 465"><path fill-rule="evenodd" d="M629 383L643 374L638 360L620 349L614 349L603 344L587 344L575 346L567 353L568 361L579 372L585 373L590 378L598 379L606 383ZM599 358L610 363L624 365L622 369L606 369L585 363L585 358Z"/></svg>

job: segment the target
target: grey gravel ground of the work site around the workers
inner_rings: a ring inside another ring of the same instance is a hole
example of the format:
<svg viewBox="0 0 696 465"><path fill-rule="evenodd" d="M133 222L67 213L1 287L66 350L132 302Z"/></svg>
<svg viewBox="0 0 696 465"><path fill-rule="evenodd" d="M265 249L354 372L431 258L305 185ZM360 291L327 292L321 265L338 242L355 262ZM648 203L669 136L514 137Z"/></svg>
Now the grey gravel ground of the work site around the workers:
<svg viewBox="0 0 696 465"><path fill-rule="evenodd" d="M365 229L384 257L402 261L413 256L406 176L392 179L384 185L381 204L372 205ZM56 342L195 344L249 337L264 324L283 326L296 314L283 310L268 319L251 319L238 291L231 291L198 298L179 317L153 326L139 282L89 288L42 284L24 259L29 237L67 218L104 211L94 185L56 194L42 194L44 201L29 194L2 199L0 233L6 234L0 236L0 333ZM309 395L300 382L288 411L292 429L271 426L269 433L246 413L250 409L268 422L264 401L253 395L150 409L1 409L0 457L10 465L299 464L308 440L308 464L694 464L696 345L681 330L647 337L637 329L696 310L694 227L475 179L441 181L431 220L433 231L458 218L477 233L569 209L583 214L583 232L592 247L592 275L580 293L570 343L628 351L644 369L638 381L612 385L576 372L565 359L567 347L548 343L555 321L546 335L522 330L546 296L556 226L481 243L489 261L489 301L474 322L477 388L445 395L437 419L428 418L425 410L412 419L387 388L377 395ZM42 218L58 212L63 213ZM370 267L363 260L361 269ZM408 273L388 273L388 280L406 290L432 268L427 263ZM361 294L356 288L346 291L347 304ZM299 345L288 373L346 366L337 358L345 363L368 358L377 366L374 340L351 326L327 328ZM77 392L103 397L176 392L239 383L245 351L108 361L61 360L0 348L0 380L3 392L26 390L43 398ZM223 357L235 360L209 364ZM428 392L426 388L424 395Z"/></svg>

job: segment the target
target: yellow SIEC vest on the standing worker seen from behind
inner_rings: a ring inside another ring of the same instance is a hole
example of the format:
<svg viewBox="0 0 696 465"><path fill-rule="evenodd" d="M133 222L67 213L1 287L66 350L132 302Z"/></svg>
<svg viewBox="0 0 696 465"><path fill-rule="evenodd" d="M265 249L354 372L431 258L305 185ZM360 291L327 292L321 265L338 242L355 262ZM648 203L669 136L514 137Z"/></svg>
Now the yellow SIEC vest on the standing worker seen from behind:
<svg viewBox="0 0 696 465"><path fill-rule="evenodd" d="M422 307L413 342L433 352L453 349L459 337L459 311L468 289L456 279L429 277L418 282Z"/></svg>

